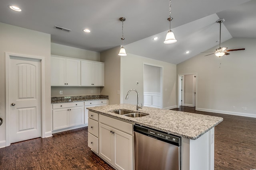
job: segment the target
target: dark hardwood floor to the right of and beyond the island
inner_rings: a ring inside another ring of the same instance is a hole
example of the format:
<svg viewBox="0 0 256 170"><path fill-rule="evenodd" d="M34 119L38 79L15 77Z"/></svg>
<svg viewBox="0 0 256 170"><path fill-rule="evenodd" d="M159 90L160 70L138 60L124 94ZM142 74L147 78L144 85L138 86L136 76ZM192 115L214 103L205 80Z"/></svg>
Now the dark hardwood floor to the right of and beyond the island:
<svg viewBox="0 0 256 170"><path fill-rule="evenodd" d="M256 118L196 111L181 106L172 110L222 117L215 127L215 170L256 169Z"/></svg>

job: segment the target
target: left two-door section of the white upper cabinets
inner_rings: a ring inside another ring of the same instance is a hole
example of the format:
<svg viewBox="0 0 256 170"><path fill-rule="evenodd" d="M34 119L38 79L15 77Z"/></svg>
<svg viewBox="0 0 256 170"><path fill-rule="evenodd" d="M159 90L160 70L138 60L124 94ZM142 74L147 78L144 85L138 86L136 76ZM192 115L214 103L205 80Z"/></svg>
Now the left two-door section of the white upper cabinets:
<svg viewBox="0 0 256 170"><path fill-rule="evenodd" d="M51 57L51 86L80 86L80 60L68 57Z"/></svg>

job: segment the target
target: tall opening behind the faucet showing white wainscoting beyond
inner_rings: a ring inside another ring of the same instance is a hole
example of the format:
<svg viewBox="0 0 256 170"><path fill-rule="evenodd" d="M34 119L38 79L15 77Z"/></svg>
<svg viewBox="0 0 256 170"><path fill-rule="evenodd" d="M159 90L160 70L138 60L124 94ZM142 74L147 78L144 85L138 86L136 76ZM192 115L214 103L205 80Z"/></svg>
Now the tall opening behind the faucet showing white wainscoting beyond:
<svg viewBox="0 0 256 170"><path fill-rule="evenodd" d="M143 65L144 106L162 109L162 67L151 64Z"/></svg>

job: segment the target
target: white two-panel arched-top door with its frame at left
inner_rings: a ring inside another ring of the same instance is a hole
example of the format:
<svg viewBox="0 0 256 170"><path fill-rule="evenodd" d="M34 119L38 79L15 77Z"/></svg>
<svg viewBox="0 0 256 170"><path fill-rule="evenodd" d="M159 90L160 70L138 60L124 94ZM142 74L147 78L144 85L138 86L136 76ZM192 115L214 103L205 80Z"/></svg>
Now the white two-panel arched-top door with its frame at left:
<svg viewBox="0 0 256 170"><path fill-rule="evenodd" d="M44 137L44 58L6 53L6 146Z"/></svg>

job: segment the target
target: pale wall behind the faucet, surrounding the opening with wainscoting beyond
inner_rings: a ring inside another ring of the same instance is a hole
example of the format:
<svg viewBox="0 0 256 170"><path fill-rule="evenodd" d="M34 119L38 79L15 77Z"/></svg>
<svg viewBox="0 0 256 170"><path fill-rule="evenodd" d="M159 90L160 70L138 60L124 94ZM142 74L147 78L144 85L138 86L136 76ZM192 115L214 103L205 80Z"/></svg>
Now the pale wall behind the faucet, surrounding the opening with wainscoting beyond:
<svg viewBox="0 0 256 170"><path fill-rule="evenodd" d="M143 103L143 64L152 64L163 67L163 108L174 108L177 95L177 74L176 65L129 54L121 57L121 103L136 104L136 92L129 94L129 99L125 100L125 96L130 89L136 89L139 92L139 104ZM139 82L136 85L136 82Z"/></svg>

